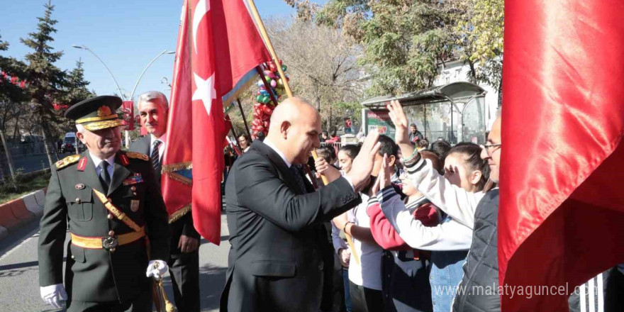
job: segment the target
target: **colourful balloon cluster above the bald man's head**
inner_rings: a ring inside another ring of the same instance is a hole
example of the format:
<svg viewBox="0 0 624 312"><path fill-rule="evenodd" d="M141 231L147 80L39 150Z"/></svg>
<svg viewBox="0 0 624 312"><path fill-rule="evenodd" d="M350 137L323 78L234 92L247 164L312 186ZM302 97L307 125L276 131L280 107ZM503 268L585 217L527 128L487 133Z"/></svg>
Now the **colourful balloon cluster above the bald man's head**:
<svg viewBox="0 0 624 312"><path fill-rule="evenodd" d="M253 121L251 122L251 130L253 137L257 138L258 133L267 134L269 131L269 123L275 103L271 99L271 94L275 101L279 101L283 94L286 93L284 89L284 82L279 78L279 72L277 71L275 62L267 62L262 65L264 68L264 80L267 82L267 86L264 85L262 79L257 82L258 91L256 92L256 104L254 104ZM279 66L282 66L282 70L286 72L286 65L282 65L282 61L279 61ZM286 81L290 79L286 76ZM270 93L269 93L270 92Z"/></svg>

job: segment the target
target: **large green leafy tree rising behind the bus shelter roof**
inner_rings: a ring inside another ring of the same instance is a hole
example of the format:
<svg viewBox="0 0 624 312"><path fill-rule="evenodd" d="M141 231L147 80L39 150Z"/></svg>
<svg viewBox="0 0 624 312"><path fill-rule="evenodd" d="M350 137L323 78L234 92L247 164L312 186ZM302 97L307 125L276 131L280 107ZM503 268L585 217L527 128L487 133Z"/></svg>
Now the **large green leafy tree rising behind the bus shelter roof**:
<svg viewBox="0 0 624 312"><path fill-rule="evenodd" d="M458 16L447 1L330 0L316 21L362 45L372 94L400 94L431 87L438 64L461 52Z"/></svg>

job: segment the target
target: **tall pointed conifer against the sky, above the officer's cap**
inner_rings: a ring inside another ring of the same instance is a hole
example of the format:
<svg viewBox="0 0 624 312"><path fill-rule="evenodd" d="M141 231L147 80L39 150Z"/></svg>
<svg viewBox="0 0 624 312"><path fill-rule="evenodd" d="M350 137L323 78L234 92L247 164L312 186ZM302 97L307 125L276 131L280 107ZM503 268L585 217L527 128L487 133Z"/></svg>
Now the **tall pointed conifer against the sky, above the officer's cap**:
<svg viewBox="0 0 624 312"><path fill-rule="evenodd" d="M28 33L28 38L20 38L21 43L28 48L33 49L26 55L28 66L26 67L26 79L28 80L27 92L32 101L31 120L36 121L40 126L40 131L45 142L45 152L48 154L48 161L52 167L52 152L55 146L50 138L50 127L59 123L60 118L55 114L53 105L65 96L65 87L67 85L67 73L54 65L63 55L62 51L54 52L50 43L54 41L52 33L56 33L54 28L57 21L52 19L52 11L54 6L48 1L45 4L45 13L43 17L38 18L38 31L36 33Z"/></svg>

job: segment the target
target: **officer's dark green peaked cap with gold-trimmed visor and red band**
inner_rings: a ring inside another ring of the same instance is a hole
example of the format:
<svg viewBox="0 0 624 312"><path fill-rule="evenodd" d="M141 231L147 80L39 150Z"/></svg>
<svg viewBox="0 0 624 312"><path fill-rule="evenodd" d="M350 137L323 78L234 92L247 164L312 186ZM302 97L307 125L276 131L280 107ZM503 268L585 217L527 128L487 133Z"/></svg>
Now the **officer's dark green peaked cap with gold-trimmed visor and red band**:
<svg viewBox="0 0 624 312"><path fill-rule="evenodd" d="M103 95L84 100L65 111L65 118L76 121L89 131L121 126L117 108L121 106L118 96Z"/></svg>

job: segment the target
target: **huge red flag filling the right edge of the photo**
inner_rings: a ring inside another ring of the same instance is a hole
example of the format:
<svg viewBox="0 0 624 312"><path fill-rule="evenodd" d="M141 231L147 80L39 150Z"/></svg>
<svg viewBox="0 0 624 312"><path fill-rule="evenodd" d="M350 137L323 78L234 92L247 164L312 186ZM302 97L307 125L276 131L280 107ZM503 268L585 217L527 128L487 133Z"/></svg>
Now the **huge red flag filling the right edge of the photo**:
<svg viewBox="0 0 624 312"><path fill-rule="evenodd" d="M567 311L574 286L624 262L621 12L621 0L505 2L502 311Z"/></svg>

